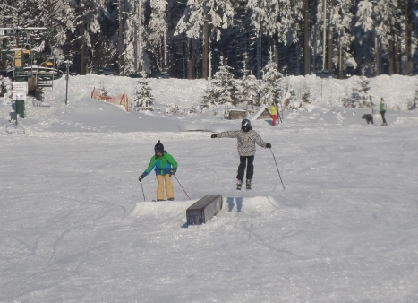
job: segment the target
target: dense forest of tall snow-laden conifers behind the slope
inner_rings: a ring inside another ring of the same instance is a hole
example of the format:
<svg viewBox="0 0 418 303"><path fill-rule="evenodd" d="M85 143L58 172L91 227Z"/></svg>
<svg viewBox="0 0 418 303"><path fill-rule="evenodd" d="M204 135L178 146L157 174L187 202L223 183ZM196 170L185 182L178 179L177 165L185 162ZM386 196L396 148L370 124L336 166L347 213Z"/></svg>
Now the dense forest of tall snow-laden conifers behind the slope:
<svg viewBox="0 0 418 303"><path fill-rule="evenodd" d="M0 27L30 31L32 64L72 61L74 74L210 79L222 65L282 74L417 74L415 0L0 0ZM41 38L41 35L44 37ZM46 37L45 37L46 35ZM37 41L42 39L41 44ZM0 50L19 43L0 32ZM0 58L0 68L13 63Z"/></svg>

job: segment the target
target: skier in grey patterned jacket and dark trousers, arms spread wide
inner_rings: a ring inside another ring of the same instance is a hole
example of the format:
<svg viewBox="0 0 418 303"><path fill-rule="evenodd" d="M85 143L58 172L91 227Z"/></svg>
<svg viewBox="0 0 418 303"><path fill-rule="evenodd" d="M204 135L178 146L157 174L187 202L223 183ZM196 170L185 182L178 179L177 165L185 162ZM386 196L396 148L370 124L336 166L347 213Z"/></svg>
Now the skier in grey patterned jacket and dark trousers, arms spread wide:
<svg viewBox="0 0 418 303"><path fill-rule="evenodd" d="M252 188L252 177L254 175L254 155L255 155L255 143L264 148L271 148L270 143L265 143L260 134L257 134L252 130L252 124L249 119L243 119L241 122L241 130L222 132L219 134L212 134L211 138L236 138L238 141L238 154L240 155L240 165L238 166L238 174L236 175L237 183L236 189L241 189L243 186L243 175L245 168L246 172L246 188Z"/></svg>

